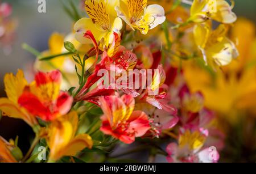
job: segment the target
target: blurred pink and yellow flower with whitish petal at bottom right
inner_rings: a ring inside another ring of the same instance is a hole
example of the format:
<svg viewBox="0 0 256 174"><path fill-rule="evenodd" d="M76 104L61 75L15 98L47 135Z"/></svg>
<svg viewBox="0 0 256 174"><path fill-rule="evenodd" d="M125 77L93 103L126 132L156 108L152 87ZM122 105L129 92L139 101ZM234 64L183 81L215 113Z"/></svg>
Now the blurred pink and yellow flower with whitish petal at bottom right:
<svg viewBox="0 0 256 174"><path fill-rule="evenodd" d="M168 162L217 162L219 158L217 151L213 152L210 148L201 150L207 136L208 131L204 129L181 130L178 145L176 143L170 143L166 147ZM214 154L209 158L211 152Z"/></svg>

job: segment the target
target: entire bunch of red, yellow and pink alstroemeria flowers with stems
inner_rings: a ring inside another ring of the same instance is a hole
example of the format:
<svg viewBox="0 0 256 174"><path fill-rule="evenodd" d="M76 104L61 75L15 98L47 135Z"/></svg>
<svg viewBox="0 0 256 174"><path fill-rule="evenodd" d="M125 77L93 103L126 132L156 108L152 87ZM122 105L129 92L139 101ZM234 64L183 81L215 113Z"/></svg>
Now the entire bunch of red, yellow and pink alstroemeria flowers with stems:
<svg viewBox="0 0 256 174"><path fill-rule="evenodd" d="M229 35L237 34L233 4L86 0L85 18L71 6L73 31L52 34L49 49L36 55L34 80L27 82L22 70L5 75L3 116L24 120L36 135L24 157L1 137L0 162L37 161L32 151L42 145L48 162L92 162L97 155L106 162L115 159L106 151L135 141L168 162L218 162L225 134L209 97L218 93L198 81L222 77L239 56ZM0 22L7 7L0 5ZM218 80L217 90L224 90L229 81Z"/></svg>

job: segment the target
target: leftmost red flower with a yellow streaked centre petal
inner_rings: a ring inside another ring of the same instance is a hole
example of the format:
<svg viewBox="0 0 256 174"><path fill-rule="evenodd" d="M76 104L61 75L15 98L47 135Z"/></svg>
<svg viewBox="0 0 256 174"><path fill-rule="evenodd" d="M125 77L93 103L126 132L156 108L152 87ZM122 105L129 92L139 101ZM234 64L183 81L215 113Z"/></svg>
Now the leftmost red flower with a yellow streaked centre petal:
<svg viewBox="0 0 256 174"><path fill-rule="evenodd" d="M68 113L73 102L67 92L60 91L60 83L60 71L37 73L35 83L27 87L19 97L19 105L45 121L55 120Z"/></svg>

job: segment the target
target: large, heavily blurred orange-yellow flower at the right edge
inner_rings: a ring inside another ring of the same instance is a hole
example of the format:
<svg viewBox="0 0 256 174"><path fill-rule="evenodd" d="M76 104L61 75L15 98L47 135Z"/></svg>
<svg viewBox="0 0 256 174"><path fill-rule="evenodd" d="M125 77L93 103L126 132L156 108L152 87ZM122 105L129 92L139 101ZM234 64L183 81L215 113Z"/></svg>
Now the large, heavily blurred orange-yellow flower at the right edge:
<svg viewBox="0 0 256 174"><path fill-rule="evenodd" d="M241 33L242 30L246 31ZM241 54L222 71L209 73L193 61L183 65L189 88L203 93L205 106L236 122L240 109L256 113L255 26L249 20L238 19L231 34Z"/></svg>

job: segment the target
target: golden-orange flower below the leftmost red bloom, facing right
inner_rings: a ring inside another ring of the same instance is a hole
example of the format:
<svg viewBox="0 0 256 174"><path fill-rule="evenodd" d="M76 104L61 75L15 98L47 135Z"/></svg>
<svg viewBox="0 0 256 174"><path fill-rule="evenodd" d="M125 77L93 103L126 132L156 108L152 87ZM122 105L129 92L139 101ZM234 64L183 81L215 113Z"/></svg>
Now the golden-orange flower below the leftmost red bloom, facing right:
<svg viewBox="0 0 256 174"><path fill-rule="evenodd" d="M63 156L74 156L86 147L92 148L92 138L88 134L76 135L78 121L77 113L71 112L51 123L47 138L49 162Z"/></svg>

